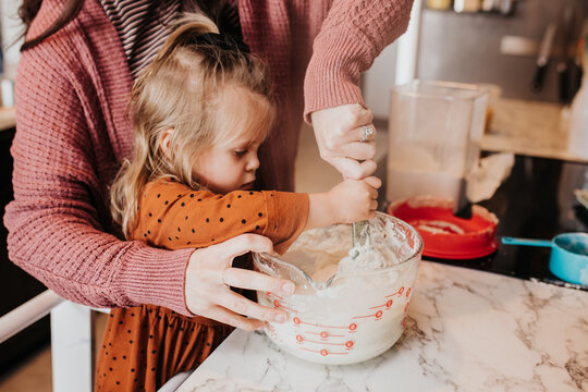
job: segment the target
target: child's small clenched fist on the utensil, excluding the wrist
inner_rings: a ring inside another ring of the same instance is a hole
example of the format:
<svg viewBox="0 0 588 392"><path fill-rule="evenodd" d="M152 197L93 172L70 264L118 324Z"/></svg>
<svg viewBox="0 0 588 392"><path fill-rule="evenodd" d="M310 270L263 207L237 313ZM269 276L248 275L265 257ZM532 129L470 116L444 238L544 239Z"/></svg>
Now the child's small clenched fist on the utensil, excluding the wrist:
<svg viewBox="0 0 588 392"><path fill-rule="evenodd" d="M376 176L345 180L329 191L331 209L339 223L353 223L376 217L378 188L382 185Z"/></svg>

